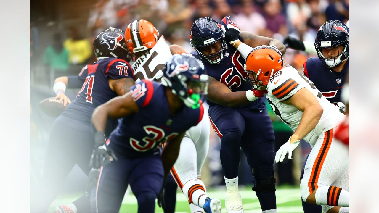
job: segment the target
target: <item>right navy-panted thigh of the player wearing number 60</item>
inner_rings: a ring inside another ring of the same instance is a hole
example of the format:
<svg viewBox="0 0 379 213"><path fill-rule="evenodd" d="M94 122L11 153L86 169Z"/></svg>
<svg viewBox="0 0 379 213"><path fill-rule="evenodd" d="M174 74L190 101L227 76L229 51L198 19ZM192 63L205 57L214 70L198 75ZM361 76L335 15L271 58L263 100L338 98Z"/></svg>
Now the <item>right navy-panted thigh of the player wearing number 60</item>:
<svg viewBox="0 0 379 213"><path fill-rule="evenodd" d="M245 132L241 138L241 148L251 167L274 164L274 131L267 110L242 111L246 121Z"/></svg>

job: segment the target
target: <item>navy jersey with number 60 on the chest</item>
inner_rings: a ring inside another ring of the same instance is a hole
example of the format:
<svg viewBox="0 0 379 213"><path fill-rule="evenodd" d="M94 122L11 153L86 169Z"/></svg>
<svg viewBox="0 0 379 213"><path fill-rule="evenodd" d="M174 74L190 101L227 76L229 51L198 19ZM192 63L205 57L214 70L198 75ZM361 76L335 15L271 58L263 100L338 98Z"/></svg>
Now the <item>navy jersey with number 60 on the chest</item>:
<svg viewBox="0 0 379 213"><path fill-rule="evenodd" d="M199 58L196 51L193 51L191 54ZM240 52L238 52L238 50L232 45L227 44L227 51L219 64L210 64L205 60L202 61L207 70L207 74L229 87L230 91L247 91L253 87L252 83L246 83L244 81L244 78L248 75L243 69L246 61ZM266 97L258 98L257 100L244 105L242 108L262 110L266 108L265 101ZM216 103L213 103L208 99L207 103L210 106L216 105Z"/></svg>

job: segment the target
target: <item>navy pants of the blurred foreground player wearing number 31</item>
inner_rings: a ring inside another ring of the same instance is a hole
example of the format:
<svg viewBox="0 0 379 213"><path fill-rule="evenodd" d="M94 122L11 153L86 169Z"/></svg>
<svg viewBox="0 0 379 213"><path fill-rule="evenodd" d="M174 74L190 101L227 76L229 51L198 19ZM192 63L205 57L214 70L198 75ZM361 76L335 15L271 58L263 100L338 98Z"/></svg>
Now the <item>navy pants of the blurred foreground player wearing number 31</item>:
<svg viewBox="0 0 379 213"><path fill-rule="evenodd" d="M138 201L138 213L153 213L163 185L160 153L130 159L112 146L118 160L100 170L98 185L91 193L92 213L118 213L128 184ZM128 210L125 210L127 212Z"/></svg>

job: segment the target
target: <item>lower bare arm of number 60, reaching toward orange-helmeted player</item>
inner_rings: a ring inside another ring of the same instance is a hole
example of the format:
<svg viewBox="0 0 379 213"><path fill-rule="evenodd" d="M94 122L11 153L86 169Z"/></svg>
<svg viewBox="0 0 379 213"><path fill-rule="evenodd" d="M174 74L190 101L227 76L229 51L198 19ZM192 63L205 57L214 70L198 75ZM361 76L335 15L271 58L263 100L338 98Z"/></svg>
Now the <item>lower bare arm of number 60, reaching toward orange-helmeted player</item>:
<svg viewBox="0 0 379 213"><path fill-rule="evenodd" d="M225 107L238 107L250 103L246 92L232 92L223 83L209 77L207 99Z"/></svg>

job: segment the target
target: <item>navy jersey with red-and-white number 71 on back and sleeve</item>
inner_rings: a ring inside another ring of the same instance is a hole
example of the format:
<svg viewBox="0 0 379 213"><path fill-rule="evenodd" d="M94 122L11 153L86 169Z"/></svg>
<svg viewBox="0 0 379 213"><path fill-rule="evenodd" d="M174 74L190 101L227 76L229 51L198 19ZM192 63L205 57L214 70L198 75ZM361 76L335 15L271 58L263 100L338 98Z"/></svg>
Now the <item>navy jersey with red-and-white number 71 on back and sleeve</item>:
<svg viewBox="0 0 379 213"><path fill-rule="evenodd" d="M133 70L122 59L103 58L92 65L86 65L79 78L83 80L83 86L77 98L67 106L61 116L90 125L95 108L117 97L117 93L109 87L108 79L133 78Z"/></svg>

